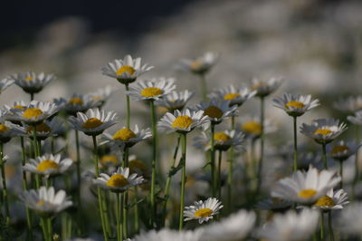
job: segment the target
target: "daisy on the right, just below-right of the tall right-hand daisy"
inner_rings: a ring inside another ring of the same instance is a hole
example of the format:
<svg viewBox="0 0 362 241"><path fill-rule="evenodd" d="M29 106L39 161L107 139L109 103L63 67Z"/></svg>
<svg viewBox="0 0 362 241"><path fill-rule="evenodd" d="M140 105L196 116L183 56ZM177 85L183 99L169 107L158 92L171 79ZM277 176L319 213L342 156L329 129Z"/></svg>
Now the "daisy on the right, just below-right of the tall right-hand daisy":
<svg viewBox="0 0 362 241"><path fill-rule="evenodd" d="M347 125L334 119L313 120L310 125L303 123L300 127L300 133L316 140L319 144L328 144L345 130Z"/></svg>

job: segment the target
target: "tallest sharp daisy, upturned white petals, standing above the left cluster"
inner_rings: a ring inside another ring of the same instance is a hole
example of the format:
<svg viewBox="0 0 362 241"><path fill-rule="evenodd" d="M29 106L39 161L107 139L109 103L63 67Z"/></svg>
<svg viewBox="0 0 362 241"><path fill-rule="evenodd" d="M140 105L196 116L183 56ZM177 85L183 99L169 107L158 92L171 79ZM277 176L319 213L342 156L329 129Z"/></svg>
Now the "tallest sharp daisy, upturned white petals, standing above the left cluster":
<svg viewBox="0 0 362 241"><path fill-rule="evenodd" d="M126 55L123 60L114 60L101 70L104 75L115 78L120 83L129 84L151 69L153 66L149 66L148 63L141 64L141 58L132 59L130 55Z"/></svg>

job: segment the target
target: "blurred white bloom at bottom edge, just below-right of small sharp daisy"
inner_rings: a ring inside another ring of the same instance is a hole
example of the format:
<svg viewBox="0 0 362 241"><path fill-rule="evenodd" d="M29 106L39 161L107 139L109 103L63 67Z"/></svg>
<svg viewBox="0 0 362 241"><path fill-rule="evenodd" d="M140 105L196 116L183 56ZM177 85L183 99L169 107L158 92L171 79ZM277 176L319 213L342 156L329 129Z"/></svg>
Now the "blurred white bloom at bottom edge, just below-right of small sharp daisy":
<svg viewBox="0 0 362 241"><path fill-rule="evenodd" d="M256 220L252 211L239 210L237 213L225 217L220 222L201 227L203 241L231 241L245 238Z"/></svg>

